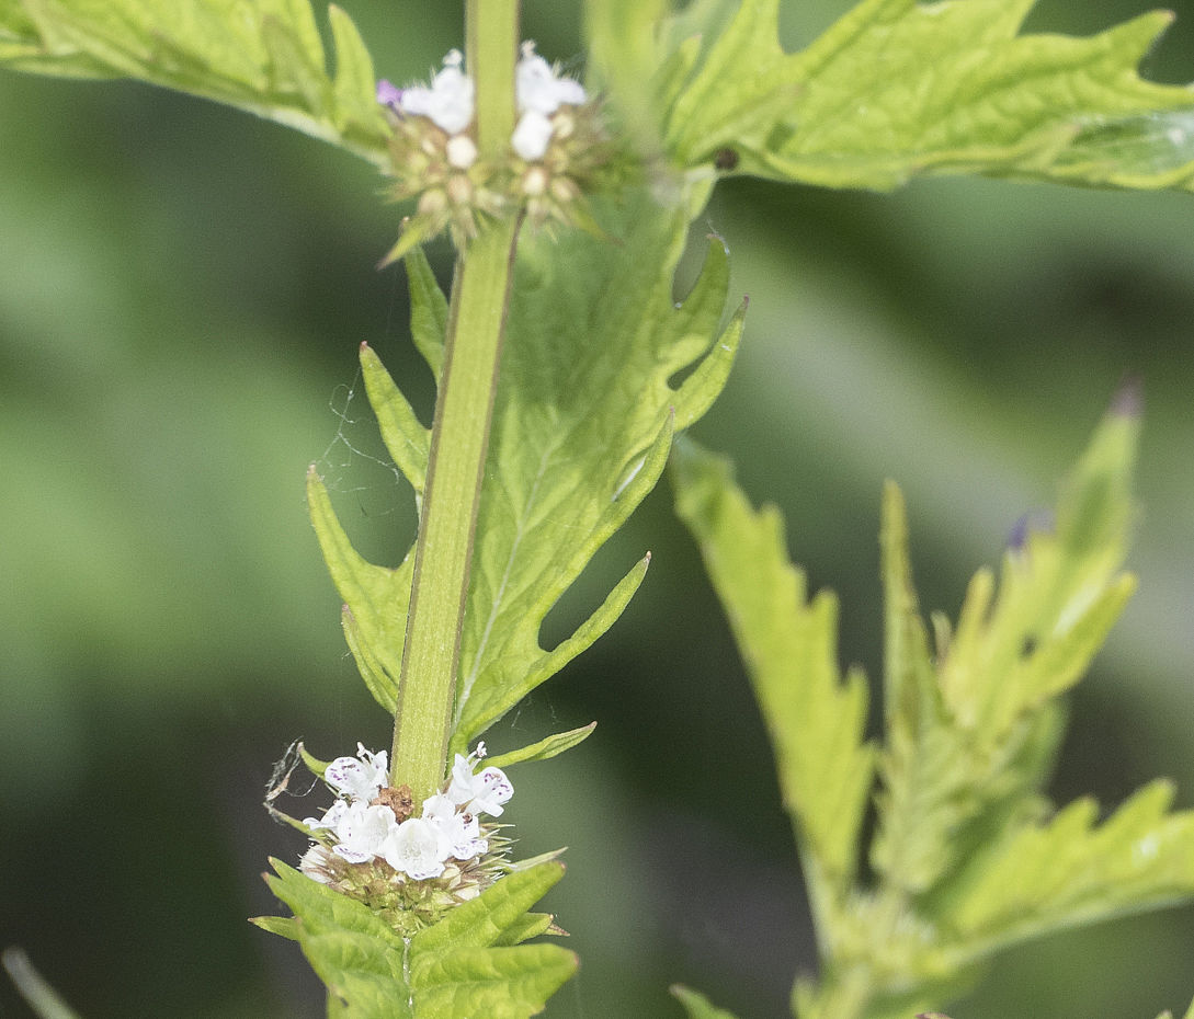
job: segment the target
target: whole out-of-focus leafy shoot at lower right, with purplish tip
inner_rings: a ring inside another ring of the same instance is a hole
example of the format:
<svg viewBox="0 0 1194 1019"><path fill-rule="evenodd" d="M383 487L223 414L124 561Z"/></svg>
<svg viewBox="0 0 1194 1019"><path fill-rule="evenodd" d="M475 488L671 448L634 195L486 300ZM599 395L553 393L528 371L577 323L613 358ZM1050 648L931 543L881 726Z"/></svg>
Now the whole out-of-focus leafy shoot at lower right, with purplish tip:
<svg viewBox="0 0 1194 1019"><path fill-rule="evenodd" d="M1122 611L1138 397L1122 394L1067 480L1053 523L1013 539L998 589L975 574L956 625L919 615L899 489L884 499L884 747L869 847L855 878L872 748L866 686L842 685L832 595L808 601L774 507L756 513L725 462L682 444L677 512L693 530L776 751L810 885L819 983L794 1013L897 1019L954 996L992 952L1028 938L1194 900L1194 811L1170 783L1103 823L1042 786L1059 704ZM810 734L824 734L824 745Z"/></svg>

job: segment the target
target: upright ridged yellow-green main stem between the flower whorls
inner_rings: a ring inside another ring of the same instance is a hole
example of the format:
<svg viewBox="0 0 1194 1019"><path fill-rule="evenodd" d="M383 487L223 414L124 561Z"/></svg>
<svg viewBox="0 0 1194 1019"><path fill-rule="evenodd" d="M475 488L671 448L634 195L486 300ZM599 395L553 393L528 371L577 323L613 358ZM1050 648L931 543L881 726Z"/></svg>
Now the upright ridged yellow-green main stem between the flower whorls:
<svg viewBox="0 0 1194 1019"><path fill-rule="evenodd" d="M468 72L476 84L482 156L513 129L517 0L468 0ZM418 808L443 782L473 532L498 383L519 221L487 224L462 249L453 280L444 366L431 430L390 782L411 786Z"/></svg>

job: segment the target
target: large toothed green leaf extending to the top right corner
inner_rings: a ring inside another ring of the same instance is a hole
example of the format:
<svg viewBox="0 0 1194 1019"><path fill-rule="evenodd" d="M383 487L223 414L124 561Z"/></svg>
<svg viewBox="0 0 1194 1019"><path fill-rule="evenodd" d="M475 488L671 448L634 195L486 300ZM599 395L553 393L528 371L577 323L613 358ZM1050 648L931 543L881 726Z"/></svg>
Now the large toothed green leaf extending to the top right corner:
<svg viewBox="0 0 1194 1019"><path fill-rule="evenodd" d="M661 146L681 167L731 148L738 173L827 187L949 172L1188 190L1194 92L1135 70L1173 16L1018 35L1032 6L863 0L784 54L778 0L744 0L701 60L693 41L656 54Z"/></svg>

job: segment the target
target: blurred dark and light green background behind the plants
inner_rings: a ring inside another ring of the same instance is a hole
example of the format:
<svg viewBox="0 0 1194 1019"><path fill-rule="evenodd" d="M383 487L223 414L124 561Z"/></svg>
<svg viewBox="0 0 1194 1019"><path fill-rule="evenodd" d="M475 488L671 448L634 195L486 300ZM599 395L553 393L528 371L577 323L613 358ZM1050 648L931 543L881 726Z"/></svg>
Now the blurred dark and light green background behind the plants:
<svg viewBox="0 0 1194 1019"><path fill-rule="evenodd" d="M461 38L454 4L344 6L396 80ZM1150 76L1194 79L1187 6ZM845 7L790 0L787 44ZM1042 0L1030 25L1140 10ZM573 5L528 2L525 23L578 66ZM355 359L368 340L429 406L401 273L374 270L399 212L351 156L141 86L2 75L0 124L0 945L90 1019L320 1015L298 952L245 918L275 909L266 857L302 848L260 809L271 762L297 736L325 758L389 740L302 481L315 462L361 548L396 561L411 502ZM1054 792L1115 803L1169 774L1194 805L1194 197L734 181L704 228L751 310L696 434L783 507L794 555L842 595L843 660L872 677L882 480L907 495L923 603L954 613L1143 377L1141 589L1073 698ZM650 548L626 617L490 741L601 723L512 774L522 852L570 847L548 906L583 966L548 1015L678 1015L683 981L777 1017L814 964L762 725L669 502L603 550L548 637ZM1151 1019L1192 993L1184 908L1007 957L953 1014ZM26 1014L0 984L0 1015Z"/></svg>

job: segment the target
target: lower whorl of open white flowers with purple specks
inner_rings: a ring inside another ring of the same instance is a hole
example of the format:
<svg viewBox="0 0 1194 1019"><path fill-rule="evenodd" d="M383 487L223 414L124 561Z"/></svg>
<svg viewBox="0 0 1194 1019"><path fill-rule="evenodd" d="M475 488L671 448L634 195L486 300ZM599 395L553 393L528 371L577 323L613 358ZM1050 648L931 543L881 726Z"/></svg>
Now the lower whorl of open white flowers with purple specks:
<svg viewBox="0 0 1194 1019"><path fill-rule="evenodd" d="M402 930L475 897L501 872L507 846L497 826L480 819L500 816L513 795L500 768L476 770L484 756L484 743L467 758L457 754L444 790L414 816L410 786L388 785L387 753L358 743L355 758L337 758L324 772L337 798L322 817L303 820L314 844L301 870Z"/></svg>

